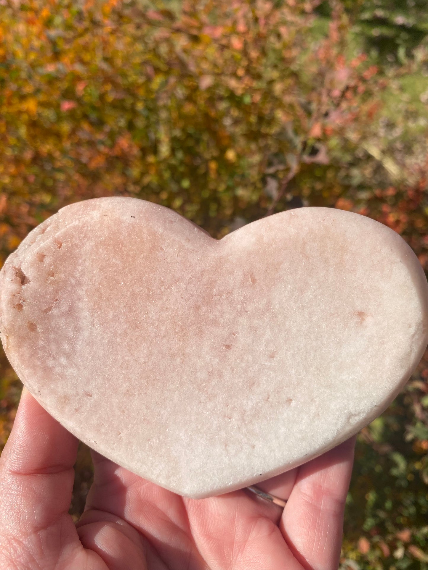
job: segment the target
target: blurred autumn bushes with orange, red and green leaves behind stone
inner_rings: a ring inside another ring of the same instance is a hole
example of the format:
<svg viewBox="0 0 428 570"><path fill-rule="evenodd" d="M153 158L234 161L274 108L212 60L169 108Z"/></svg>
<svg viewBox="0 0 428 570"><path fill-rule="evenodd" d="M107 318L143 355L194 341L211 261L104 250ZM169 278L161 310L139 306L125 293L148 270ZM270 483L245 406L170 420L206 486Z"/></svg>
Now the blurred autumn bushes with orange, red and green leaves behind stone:
<svg viewBox="0 0 428 570"><path fill-rule="evenodd" d="M215 238L352 210L428 269L427 125L426 0L0 0L1 262L60 207L132 196ZM91 477L81 445L75 520ZM428 569L428 357L359 435L347 503L344 570Z"/></svg>

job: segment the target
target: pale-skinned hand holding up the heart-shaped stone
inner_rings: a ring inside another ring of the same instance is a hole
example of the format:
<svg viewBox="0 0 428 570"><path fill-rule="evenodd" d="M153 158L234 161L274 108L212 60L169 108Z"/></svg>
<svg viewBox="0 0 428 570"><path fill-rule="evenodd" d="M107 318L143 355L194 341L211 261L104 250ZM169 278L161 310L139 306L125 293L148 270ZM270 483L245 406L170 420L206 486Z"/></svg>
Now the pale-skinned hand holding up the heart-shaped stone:
<svg viewBox="0 0 428 570"><path fill-rule="evenodd" d="M355 438L259 483L284 511L234 491L188 499L93 453L74 524L78 440L24 389L0 458L2 570L335 570Z"/></svg>

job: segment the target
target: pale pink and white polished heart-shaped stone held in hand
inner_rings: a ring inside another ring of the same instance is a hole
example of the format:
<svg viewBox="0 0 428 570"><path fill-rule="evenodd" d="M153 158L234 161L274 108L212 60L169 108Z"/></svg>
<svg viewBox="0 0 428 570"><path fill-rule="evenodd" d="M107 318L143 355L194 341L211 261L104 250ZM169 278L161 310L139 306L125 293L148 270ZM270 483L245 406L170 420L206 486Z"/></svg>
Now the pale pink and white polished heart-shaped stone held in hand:
<svg viewBox="0 0 428 570"><path fill-rule="evenodd" d="M195 498L356 433L428 340L410 247L318 207L217 241L150 202L75 203L10 255L0 287L3 346L42 406L106 457Z"/></svg>

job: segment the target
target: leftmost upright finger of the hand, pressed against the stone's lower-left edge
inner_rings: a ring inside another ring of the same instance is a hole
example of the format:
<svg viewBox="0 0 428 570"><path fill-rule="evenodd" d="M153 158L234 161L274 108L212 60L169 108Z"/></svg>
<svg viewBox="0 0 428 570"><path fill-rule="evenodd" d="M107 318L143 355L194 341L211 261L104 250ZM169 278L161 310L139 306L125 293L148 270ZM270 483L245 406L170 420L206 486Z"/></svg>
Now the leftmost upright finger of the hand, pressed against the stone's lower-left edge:
<svg viewBox="0 0 428 570"><path fill-rule="evenodd" d="M5 551L19 544L19 556L37 560L60 557L64 544L67 552L73 542L80 544L68 515L77 446L77 439L23 389L0 458L0 538Z"/></svg>

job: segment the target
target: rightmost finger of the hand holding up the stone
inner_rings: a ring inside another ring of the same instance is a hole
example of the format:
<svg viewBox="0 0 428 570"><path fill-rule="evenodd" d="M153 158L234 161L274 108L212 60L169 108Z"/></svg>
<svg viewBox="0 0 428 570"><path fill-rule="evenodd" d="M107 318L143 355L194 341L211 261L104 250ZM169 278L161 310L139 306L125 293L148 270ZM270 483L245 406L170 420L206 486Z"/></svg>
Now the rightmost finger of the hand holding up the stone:
<svg viewBox="0 0 428 570"><path fill-rule="evenodd" d="M308 570L338 568L356 437L299 467L280 530Z"/></svg>

